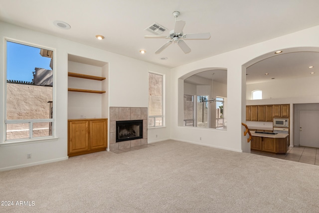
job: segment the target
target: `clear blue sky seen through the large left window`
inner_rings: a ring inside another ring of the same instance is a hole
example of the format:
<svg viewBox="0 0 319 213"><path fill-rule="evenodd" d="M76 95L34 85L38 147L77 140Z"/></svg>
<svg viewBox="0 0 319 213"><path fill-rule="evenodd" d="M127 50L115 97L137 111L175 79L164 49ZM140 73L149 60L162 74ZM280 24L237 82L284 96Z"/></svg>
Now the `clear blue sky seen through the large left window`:
<svg viewBox="0 0 319 213"><path fill-rule="evenodd" d="M34 68L50 68L51 58L42 57L40 48L6 42L6 79L32 81Z"/></svg>

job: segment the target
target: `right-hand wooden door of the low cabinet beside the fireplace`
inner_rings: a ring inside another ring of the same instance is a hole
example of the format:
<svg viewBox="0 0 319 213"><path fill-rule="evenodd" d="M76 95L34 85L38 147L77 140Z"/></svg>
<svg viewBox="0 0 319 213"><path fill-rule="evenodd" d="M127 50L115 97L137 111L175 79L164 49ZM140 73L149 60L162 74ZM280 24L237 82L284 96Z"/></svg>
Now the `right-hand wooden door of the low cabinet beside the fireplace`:
<svg viewBox="0 0 319 213"><path fill-rule="evenodd" d="M90 121L90 149L106 148L107 121Z"/></svg>

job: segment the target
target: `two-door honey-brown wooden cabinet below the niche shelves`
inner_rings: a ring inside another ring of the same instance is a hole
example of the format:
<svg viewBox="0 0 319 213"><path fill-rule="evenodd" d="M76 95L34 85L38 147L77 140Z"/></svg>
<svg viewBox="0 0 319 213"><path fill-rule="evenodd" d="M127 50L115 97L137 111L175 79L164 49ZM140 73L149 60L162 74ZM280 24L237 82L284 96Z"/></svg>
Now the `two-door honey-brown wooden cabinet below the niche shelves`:
<svg viewBox="0 0 319 213"><path fill-rule="evenodd" d="M68 156L105 151L107 119L68 120Z"/></svg>

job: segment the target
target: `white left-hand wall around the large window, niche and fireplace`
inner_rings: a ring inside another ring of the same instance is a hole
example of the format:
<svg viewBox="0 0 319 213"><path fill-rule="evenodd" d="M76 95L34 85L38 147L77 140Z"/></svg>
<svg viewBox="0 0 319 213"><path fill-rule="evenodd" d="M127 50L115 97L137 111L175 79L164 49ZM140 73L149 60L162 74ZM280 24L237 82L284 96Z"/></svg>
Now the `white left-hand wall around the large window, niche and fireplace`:
<svg viewBox="0 0 319 213"><path fill-rule="evenodd" d="M0 22L0 64L4 64L4 38L28 42L55 49L55 136L50 140L3 144L4 141L4 91L5 70L0 66L0 171L32 166L67 159L67 119L68 119L68 54L91 58L109 63L108 100L102 104L123 107L148 107L148 72L158 72L165 76L165 90L170 90L170 70L159 65L139 61L108 51L92 48L80 43ZM166 94L166 127L149 130L149 142L168 139L170 130L170 98ZM107 110L109 116L109 109ZM158 135L158 138L156 138ZM32 153L32 159L26 154Z"/></svg>

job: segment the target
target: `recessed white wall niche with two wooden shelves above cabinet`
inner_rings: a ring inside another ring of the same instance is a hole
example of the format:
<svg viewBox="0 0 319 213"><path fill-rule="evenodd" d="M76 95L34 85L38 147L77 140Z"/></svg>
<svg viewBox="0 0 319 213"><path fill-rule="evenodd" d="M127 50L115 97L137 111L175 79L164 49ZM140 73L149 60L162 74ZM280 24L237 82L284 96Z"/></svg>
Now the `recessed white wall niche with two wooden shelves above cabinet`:
<svg viewBox="0 0 319 213"><path fill-rule="evenodd" d="M108 117L108 63L68 55L68 119Z"/></svg>

